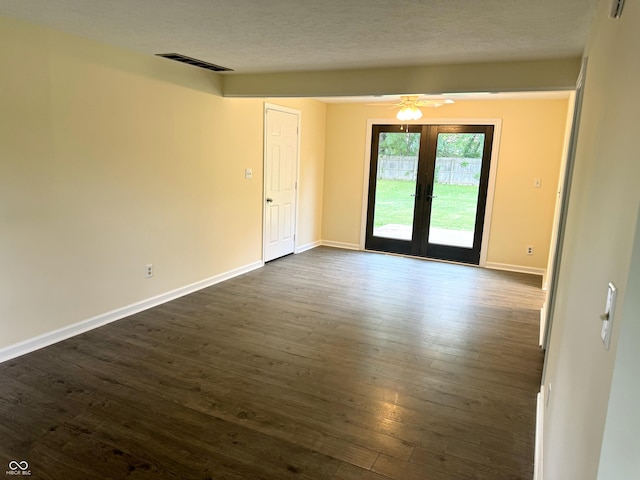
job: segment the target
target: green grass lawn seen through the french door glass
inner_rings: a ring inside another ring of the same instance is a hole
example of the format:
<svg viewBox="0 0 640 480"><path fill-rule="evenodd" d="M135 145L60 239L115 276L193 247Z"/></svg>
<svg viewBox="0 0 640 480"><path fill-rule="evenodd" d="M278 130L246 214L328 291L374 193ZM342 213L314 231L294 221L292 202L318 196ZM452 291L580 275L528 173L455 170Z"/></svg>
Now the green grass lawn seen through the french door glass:
<svg viewBox="0 0 640 480"><path fill-rule="evenodd" d="M411 196L415 183L405 180L378 180L374 225L413 224ZM476 220L478 187L436 183L433 194L431 226L471 232Z"/></svg>

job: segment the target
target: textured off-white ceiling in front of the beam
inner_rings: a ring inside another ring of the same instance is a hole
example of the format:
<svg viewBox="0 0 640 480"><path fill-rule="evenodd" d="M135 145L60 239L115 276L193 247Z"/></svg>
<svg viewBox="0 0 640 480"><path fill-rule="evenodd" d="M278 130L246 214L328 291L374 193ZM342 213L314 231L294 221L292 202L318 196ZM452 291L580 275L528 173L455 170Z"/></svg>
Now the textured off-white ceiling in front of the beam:
<svg viewBox="0 0 640 480"><path fill-rule="evenodd" d="M597 1L0 0L0 14L255 73L580 56Z"/></svg>

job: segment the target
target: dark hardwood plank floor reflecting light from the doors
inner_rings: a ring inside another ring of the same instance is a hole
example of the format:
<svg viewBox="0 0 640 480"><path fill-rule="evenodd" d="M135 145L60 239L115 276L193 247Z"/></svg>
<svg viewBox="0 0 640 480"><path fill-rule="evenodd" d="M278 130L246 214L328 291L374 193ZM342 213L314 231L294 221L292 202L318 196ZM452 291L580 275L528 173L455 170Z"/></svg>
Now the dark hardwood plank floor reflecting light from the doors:
<svg viewBox="0 0 640 480"><path fill-rule="evenodd" d="M65 480L530 480L539 284L285 257L1 364L0 462Z"/></svg>

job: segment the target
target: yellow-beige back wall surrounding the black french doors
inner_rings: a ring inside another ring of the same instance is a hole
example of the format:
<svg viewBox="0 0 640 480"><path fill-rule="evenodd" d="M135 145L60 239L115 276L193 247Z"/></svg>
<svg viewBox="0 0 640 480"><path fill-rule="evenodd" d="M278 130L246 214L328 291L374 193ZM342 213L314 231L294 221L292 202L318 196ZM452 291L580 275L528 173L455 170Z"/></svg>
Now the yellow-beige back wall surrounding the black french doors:
<svg viewBox="0 0 640 480"><path fill-rule="evenodd" d="M488 262L546 268L567 107L566 99L538 99L458 101L424 109L434 121L502 120ZM367 119L393 120L393 113L387 106L328 106L324 240L360 243ZM533 188L534 178L542 179L542 188ZM526 255L527 245L535 247L533 256Z"/></svg>

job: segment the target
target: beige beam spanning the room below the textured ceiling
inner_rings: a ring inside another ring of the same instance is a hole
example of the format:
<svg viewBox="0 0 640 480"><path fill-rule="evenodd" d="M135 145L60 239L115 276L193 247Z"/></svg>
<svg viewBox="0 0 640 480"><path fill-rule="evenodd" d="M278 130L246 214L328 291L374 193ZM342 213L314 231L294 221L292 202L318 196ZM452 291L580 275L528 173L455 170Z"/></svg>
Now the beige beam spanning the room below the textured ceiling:
<svg viewBox="0 0 640 480"><path fill-rule="evenodd" d="M521 92L575 87L579 58L226 75L225 96L320 97L416 92Z"/></svg>

